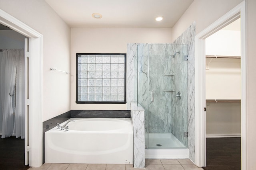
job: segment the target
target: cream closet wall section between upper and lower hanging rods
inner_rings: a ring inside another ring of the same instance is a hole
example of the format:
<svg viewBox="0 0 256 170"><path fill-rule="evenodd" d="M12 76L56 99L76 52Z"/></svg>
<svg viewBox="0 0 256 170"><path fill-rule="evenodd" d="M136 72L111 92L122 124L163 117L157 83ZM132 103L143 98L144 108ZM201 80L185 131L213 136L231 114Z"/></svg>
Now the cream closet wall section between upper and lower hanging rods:
<svg viewBox="0 0 256 170"><path fill-rule="evenodd" d="M241 99L240 65L240 59L212 59L206 70L206 100Z"/></svg>

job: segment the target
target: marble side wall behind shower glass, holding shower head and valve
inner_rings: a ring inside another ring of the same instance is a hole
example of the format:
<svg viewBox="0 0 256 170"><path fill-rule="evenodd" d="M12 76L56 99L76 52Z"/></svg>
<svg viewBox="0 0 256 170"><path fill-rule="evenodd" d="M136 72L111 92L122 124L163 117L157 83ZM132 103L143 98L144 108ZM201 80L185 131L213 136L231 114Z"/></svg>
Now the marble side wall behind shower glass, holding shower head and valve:
<svg viewBox="0 0 256 170"><path fill-rule="evenodd" d="M187 45L172 45L172 83L174 83L175 92L172 93L172 134L186 147L188 146L188 137L184 137L184 132L188 131L188 107L187 107L187 80L188 80L188 61L184 56L188 55ZM180 92L181 98L175 95Z"/></svg>

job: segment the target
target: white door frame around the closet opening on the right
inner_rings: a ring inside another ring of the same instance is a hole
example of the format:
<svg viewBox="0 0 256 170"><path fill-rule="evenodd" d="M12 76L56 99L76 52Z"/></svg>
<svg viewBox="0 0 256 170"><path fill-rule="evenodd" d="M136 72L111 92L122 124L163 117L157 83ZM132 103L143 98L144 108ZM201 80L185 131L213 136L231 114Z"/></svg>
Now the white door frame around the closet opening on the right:
<svg viewBox="0 0 256 170"><path fill-rule="evenodd" d="M195 96L196 96L196 165L206 166L205 100L205 39L234 20L241 18L241 158L246 170L246 14L245 1L212 23L195 37Z"/></svg>

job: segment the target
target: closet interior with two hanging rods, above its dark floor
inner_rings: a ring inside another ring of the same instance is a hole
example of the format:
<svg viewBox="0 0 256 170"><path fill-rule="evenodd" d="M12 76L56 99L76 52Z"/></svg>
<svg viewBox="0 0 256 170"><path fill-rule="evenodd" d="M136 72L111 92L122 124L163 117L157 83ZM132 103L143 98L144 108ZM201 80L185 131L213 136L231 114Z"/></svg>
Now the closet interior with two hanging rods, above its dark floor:
<svg viewBox="0 0 256 170"><path fill-rule="evenodd" d="M206 137L241 136L240 19L206 39Z"/></svg>

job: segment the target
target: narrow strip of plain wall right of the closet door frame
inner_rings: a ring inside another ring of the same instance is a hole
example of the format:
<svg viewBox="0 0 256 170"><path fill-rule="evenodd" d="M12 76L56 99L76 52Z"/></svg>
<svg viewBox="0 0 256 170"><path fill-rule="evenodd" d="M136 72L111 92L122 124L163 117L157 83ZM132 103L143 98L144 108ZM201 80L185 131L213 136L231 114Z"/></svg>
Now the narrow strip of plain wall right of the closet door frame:
<svg viewBox="0 0 256 170"><path fill-rule="evenodd" d="M256 164L256 1L246 0L246 144L247 170L255 170Z"/></svg>

